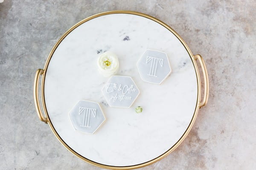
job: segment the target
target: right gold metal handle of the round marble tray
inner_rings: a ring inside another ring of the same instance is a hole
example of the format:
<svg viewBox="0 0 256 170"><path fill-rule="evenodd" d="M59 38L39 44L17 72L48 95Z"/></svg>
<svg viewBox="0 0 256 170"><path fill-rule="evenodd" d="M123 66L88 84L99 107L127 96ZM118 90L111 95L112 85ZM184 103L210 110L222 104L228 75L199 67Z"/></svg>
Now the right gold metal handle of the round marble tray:
<svg viewBox="0 0 256 170"><path fill-rule="evenodd" d="M194 56L194 59L199 61L201 68L202 68L202 72L203 72L203 77L204 77L204 98L199 102L199 108L205 106L207 104L208 101L208 97L209 97L209 79L208 79L208 73L207 73L207 69L204 63L204 59L201 57L200 54L196 54Z"/></svg>

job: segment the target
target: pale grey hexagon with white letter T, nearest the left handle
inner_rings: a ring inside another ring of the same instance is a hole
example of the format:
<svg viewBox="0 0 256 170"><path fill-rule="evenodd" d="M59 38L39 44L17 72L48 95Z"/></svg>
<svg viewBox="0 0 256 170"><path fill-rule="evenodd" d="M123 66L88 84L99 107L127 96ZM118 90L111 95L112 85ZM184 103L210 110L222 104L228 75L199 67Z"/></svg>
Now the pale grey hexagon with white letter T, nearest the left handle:
<svg viewBox="0 0 256 170"><path fill-rule="evenodd" d="M73 127L85 133L94 133L105 122L99 103L86 100L80 100L69 116Z"/></svg>

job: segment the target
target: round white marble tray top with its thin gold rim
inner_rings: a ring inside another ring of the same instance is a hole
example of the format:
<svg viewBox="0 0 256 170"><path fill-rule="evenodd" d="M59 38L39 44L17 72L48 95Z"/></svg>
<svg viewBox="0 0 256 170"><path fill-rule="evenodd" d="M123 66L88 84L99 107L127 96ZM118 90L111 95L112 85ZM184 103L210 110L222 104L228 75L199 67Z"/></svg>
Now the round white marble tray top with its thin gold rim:
<svg viewBox="0 0 256 170"><path fill-rule="evenodd" d="M161 85L140 78L137 61L146 49L168 56L172 73ZM109 107L102 94L108 78L96 60L104 51L119 57L116 75L132 77L140 89L131 108ZM76 24L56 43L41 74L42 119L67 149L99 167L131 169L163 158L186 137L199 108L191 51L164 23L136 12L105 12ZM105 124L91 135L74 130L68 116L81 99L98 102L105 113ZM134 111L137 106L142 113Z"/></svg>

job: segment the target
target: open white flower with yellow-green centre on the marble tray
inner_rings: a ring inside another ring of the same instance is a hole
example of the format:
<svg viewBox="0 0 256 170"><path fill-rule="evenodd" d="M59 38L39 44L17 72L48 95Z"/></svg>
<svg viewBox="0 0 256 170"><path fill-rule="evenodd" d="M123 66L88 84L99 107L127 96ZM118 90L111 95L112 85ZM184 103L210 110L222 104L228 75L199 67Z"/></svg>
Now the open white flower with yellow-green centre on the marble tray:
<svg viewBox="0 0 256 170"><path fill-rule="evenodd" d="M109 77L116 73L119 68L119 61L116 54L106 51L101 54L98 58L97 65L99 72L105 76Z"/></svg>

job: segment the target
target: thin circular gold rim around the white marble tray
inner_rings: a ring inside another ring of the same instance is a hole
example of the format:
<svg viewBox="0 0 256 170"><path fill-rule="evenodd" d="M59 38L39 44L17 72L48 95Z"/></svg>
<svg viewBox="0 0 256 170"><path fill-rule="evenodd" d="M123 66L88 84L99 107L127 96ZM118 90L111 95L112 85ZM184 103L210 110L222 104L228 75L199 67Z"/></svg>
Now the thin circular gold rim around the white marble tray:
<svg viewBox="0 0 256 170"><path fill-rule="evenodd" d="M180 42L183 44L183 46L186 48L186 51L189 53L189 56L192 60L192 63L194 65L195 68L195 72L196 72L196 77L197 77L197 83L198 83L198 95L197 95L197 103L195 106L195 112L194 115L192 117L192 120L188 126L188 128L186 129L186 131L183 133L183 135L181 136L181 138L169 149L167 150L165 153L163 153L162 155L156 157L155 159L152 159L150 161L141 163L141 164L136 164L136 165L131 165L131 166L111 166L111 165L105 165L105 164L100 164L98 162L95 161L91 161L90 159L87 159L83 156L81 156L79 153L76 153L76 151L74 151L71 147L69 147L64 140L61 139L61 137L58 135L58 133L56 132L55 128L52 125L51 120L49 119L49 115L47 113L47 108L46 108L46 104L45 104L45 98L44 98L44 82L45 82L45 77L46 77L46 72L47 72L47 68L50 62L50 59L52 58L53 53L55 52L55 49L58 47L58 45L61 43L61 41L71 32L73 31L75 28L77 28L78 26L80 26L81 24L87 22L88 20L92 20L96 17L100 17L103 15L108 15L108 14L134 14L134 15L138 15L141 17L145 17L148 18L150 20L153 20L157 23L159 23L160 25L164 26L165 28L167 28L169 31L171 31L179 40ZM191 130L192 126L194 125L196 116L198 114L198 109L200 108L199 103L200 103L200 96L201 96L201 80L200 80L200 74L198 71L198 66L195 62L194 56L191 52L191 50L189 49L188 45L186 44L186 42L180 37L179 34L177 34L176 31L174 31L170 26L168 26L167 24L163 23L162 21L151 17L150 15L147 14L143 14L140 12L136 12L136 11L123 11L123 10L119 10L119 11L105 11L99 14L95 14L92 15L90 17L85 18L84 20L81 20L79 23L76 23L74 26L72 26L67 32L65 32L61 38L56 42L56 44L53 46L48 58L47 58L47 62L44 65L44 72L42 74L42 80L41 80L41 98L42 98L42 104L43 104L43 109L44 109L44 113L46 114L47 118L46 118L46 122L49 124L52 132L55 134L55 136L57 137L57 139L61 142L61 144L63 144L64 147L66 147L67 150L69 150L71 153L73 153L74 155L76 155L77 157L79 157L80 159L86 161L89 164L92 164L94 166L97 167L101 167L101 168L105 168L105 169L111 169L111 170L131 170L131 169L136 169L136 168L140 168L140 167L145 167L148 166L150 164L153 164L157 161L159 161L160 159L163 159L164 157L166 157L167 155L169 155L173 150L175 150L180 144L181 142L183 142L183 140L186 138L186 136L188 135L189 131ZM206 104L206 103L205 103Z"/></svg>

